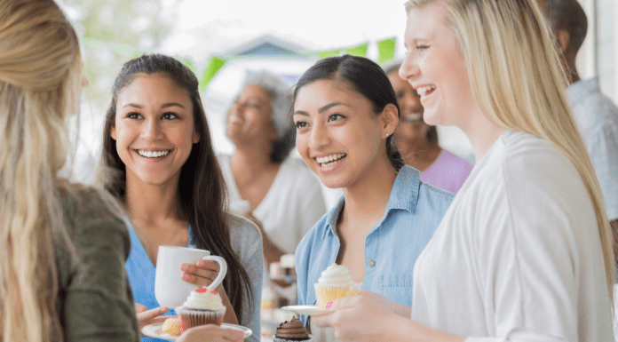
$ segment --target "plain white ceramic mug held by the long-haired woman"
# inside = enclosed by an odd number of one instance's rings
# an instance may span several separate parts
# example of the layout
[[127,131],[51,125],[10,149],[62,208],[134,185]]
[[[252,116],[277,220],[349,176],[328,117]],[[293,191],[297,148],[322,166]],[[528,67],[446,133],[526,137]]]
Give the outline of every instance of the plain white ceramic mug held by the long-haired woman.
[[198,288],[182,280],[182,264],[195,264],[199,260],[213,260],[219,264],[219,273],[214,282],[208,287],[215,290],[223,282],[227,273],[227,263],[224,258],[210,255],[210,251],[195,248],[159,246],[156,256],[155,298],[160,306],[181,306],[191,293]]

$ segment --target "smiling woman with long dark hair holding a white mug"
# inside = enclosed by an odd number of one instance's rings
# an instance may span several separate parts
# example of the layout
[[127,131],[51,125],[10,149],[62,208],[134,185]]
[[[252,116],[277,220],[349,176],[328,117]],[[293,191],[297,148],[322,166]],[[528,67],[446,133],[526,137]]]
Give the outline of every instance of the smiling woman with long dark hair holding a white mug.
[[[227,306],[224,322],[248,326],[258,340],[262,241],[252,222],[226,213],[226,186],[194,73],[158,54],[126,62],[103,139],[100,177],[128,213],[127,273],[138,311],[148,309],[138,314],[140,324],[167,310],[155,298],[159,246],[192,246],[226,259],[217,289]],[[186,282],[208,286],[218,264],[202,260],[182,270]]]

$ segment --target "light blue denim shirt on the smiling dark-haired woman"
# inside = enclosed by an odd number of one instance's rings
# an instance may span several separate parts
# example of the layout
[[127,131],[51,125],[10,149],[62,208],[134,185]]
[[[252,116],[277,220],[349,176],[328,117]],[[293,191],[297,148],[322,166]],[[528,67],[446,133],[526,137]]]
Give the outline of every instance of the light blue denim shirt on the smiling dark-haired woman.
[[[432,238],[455,195],[421,182],[420,172],[404,166],[392,185],[384,217],[365,243],[365,279],[361,289],[412,306],[412,274],[416,258]],[[345,197],[324,215],[298,244],[298,304],[313,305],[320,274],[337,259],[337,220]],[[306,316],[301,316],[306,322]]]

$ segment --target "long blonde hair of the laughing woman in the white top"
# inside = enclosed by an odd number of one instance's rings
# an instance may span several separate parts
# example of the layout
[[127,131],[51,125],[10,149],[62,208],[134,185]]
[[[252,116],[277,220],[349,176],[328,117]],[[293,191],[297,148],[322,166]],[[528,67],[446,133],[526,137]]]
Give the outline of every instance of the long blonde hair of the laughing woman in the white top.
[[613,298],[614,249],[603,197],[566,102],[567,79],[536,0],[409,0],[406,11],[446,1],[480,108],[495,124],[549,141],[574,163],[598,221]]

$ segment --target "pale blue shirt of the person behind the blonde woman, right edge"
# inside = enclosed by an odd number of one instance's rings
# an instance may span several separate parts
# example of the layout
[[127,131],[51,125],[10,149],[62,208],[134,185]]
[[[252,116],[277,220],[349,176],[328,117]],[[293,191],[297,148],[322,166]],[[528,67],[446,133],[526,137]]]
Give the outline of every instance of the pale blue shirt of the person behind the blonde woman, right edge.
[[566,95],[597,173],[607,218],[618,219],[618,107],[601,93],[597,77],[571,84]]

